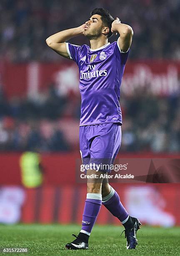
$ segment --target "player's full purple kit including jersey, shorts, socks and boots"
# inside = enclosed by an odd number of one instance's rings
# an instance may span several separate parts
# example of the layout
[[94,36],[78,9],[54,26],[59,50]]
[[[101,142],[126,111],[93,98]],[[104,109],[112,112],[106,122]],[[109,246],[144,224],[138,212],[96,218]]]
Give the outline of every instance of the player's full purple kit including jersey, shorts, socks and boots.
[[[66,43],[66,47],[80,73],[80,153],[83,164],[113,164],[121,144],[120,84],[129,50],[122,53],[117,42],[94,50],[87,45],[76,46],[69,43]],[[110,169],[98,170],[110,172]],[[105,197],[102,197],[102,192],[87,193],[80,233],[78,236],[73,235],[76,239],[67,243],[66,248],[88,248],[88,239],[101,205],[124,225],[127,249],[135,248],[135,235],[141,224],[128,214],[111,186],[109,195]]]

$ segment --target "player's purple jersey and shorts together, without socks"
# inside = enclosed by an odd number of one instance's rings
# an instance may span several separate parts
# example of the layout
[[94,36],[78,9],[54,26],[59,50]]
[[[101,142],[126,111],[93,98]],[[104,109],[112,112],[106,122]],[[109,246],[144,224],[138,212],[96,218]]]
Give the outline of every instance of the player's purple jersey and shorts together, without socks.
[[70,59],[76,62],[80,74],[83,164],[113,164],[120,148],[120,84],[129,50],[122,53],[117,42],[93,50],[87,45],[66,43]]

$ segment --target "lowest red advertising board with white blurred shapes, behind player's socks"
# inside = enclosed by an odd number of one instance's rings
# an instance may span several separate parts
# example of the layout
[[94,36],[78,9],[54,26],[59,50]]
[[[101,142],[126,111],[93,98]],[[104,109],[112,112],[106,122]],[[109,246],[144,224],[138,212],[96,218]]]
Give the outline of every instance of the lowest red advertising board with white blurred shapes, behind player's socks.
[[[131,216],[141,223],[170,227],[180,225],[178,184],[111,184]],[[86,186],[63,185],[25,189],[0,187],[0,223],[78,223],[86,199]],[[78,200],[77,200],[78,198]],[[120,225],[102,205],[98,224]]]

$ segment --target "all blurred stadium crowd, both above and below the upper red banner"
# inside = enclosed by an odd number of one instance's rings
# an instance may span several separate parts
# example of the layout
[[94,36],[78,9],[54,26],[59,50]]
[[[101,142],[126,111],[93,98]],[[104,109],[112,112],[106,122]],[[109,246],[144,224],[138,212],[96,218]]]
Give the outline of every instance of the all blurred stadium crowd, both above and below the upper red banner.
[[[90,11],[99,7],[133,27],[130,59],[180,60],[180,0],[1,0],[0,59],[15,63],[65,61],[49,49],[45,39],[80,26],[89,19]],[[110,38],[115,40],[115,36]],[[88,44],[83,36],[70,42]],[[137,91],[133,97],[122,94],[120,105],[120,151],[180,152],[179,95],[160,98]],[[78,150],[75,127],[79,118],[80,98],[60,96],[53,84],[36,98],[7,99],[0,90],[0,151]],[[64,120],[68,133],[63,129]]]

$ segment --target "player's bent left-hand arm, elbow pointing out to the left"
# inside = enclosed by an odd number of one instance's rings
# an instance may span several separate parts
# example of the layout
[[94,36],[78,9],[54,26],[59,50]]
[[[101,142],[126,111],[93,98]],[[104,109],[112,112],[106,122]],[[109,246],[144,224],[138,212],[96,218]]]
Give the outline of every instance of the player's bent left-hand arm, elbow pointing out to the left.
[[85,24],[77,27],[77,28],[70,28],[64,31],[60,31],[46,39],[47,45],[60,54],[61,56],[70,59],[69,54],[67,53],[66,43],[65,41],[73,38],[75,36],[83,35],[84,33],[84,26]]

